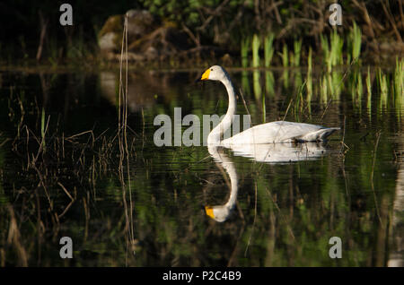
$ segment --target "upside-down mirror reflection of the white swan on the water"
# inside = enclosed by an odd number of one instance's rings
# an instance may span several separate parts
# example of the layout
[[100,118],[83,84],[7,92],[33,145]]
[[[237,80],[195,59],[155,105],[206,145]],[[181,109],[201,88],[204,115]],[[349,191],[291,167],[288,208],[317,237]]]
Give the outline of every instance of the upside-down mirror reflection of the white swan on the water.
[[[237,171],[231,160],[225,153],[223,147],[208,145],[207,150],[217,163],[219,168],[224,168],[230,178],[230,196],[222,205],[206,206],[206,215],[210,218],[223,222],[227,220],[234,210],[237,201],[238,177]],[[234,155],[243,156],[259,162],[267,163],[288,163],[300,160],[318,160],[327,152],[325,143],[265,143],[265,144],[244,144],[232,148]]]

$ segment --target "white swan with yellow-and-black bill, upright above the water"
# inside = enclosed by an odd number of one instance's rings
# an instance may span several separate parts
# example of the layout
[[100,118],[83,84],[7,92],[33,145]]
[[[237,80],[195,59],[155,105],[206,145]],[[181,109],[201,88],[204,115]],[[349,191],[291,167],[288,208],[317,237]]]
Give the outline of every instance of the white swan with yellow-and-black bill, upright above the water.
[[242,133],[221,140],[224,132],[232,125],[236,111],[236,97],[233,83],[229,74],[220,65],[213,65],[206,69],[197,81],[219,81],[224,84],[229,95],[229,107],[223,120],[207,136],[207,144],[221,145],[232,148],[240,144],[259,144],[276,142],[322,142],[339,130],[339,127],[325,127],[304,123],[277,121],[255,125]]

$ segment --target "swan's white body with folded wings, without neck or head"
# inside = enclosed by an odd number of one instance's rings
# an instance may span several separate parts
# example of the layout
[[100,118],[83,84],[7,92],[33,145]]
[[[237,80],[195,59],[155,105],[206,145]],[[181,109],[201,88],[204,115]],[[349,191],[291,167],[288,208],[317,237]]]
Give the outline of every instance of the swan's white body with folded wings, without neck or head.
[[321,125],[277,121],[256,125],[223,141],[224,146],[242,143],[313,142],[323,141],[338,128]]

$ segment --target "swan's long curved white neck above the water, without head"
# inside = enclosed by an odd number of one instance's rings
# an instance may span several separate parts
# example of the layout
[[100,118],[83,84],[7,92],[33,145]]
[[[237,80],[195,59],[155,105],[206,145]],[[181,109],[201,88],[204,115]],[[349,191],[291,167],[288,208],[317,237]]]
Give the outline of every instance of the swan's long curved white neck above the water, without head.
[[227,129],[229,129],[233,123],[233,115],[235,114],[237,102],[235,98],[235,91],[233,87],[233,83],[230,81],[228,74],[224,76],[224,79],[221,80],[226,88],[227,94],[229,95],[229,108],[227,108],[226,115],[219,125],[216,125],[215,128],[210,132],[207,136],[208,144],[219,144],[222,135]]

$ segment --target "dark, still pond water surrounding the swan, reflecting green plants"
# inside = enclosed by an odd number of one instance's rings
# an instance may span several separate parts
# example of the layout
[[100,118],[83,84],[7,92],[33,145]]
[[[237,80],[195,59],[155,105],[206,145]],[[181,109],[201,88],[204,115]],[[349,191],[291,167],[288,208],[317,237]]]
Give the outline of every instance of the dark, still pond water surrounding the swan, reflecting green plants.
[[[119,72],[1,72],[0,264],[402,266],[399,99],[383,99],[375,81],[369,97],[350,74],[326,94],[319,71],[312,97],[299,97],[305,73],[235,70],[253,125],[285,118],[341,132],[272,149],[299,157],[281,162],[157,147],[157,115],[225,113],[223,86],[195,84],[200,72],[129,73],[123,152]],[[206,215],[214,206],[220,219]],[[71,259],[59,255],[62,237]],[[329,256],[332,237],[341,258]]]

